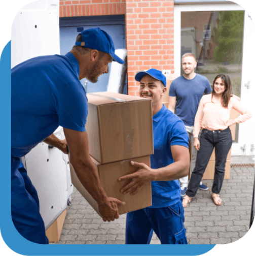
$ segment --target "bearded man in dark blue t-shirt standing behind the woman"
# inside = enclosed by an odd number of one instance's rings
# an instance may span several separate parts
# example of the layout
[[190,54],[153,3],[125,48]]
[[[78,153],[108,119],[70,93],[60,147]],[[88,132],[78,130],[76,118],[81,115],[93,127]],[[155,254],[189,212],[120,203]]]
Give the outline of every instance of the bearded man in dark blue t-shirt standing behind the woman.
[[[196,57],[192,53],[185,53],[181,59],[184,74],[171,83],[168,97],[168,109],[175,113],[181,120],[184,121],[187,133],[190,138],[192,148],[192,159],[190,171],[192,172],[196,165],[197,150],[194,148],[194,120],[197,113],[200,99],[204,94],[211,93],[212,89],[209,80],[195,73],[197,66]],[[179,179],[181,187],[181,196],[186,195],[188,187],[187,175]],[[200,182],[199,188],[207,190],[208,187]]]

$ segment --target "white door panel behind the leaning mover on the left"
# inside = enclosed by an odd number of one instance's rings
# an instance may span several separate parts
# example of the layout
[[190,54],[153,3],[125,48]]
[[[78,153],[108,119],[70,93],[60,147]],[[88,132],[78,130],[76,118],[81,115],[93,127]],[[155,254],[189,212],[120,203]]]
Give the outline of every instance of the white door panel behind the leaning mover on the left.
[[[60,54],[59,0],[30,2],[15,15],[11,26],[11,67],[36,56]],[[54,135],[63,140],[61,126]],[[41,142],[21,158],[38,191],[45,229],[70,204],[71,184],[68,155]]]

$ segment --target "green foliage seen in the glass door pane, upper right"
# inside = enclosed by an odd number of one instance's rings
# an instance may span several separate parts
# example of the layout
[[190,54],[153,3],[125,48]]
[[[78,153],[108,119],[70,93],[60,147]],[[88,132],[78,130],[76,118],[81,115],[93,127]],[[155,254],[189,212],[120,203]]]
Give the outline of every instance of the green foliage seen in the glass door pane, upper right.
[[218,28],[214,29],[215,62],[240,63],[242,61],[244,11],[220,12]]

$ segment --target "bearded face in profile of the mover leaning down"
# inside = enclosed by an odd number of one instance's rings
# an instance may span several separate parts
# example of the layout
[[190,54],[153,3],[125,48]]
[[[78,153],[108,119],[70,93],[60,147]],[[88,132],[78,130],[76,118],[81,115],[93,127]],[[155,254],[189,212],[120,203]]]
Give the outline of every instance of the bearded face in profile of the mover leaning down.
[[98,77],[102,74],[107,74],[109,72],[108,64],[113,61],[113,58],[110,54],[104,54],[101,59],[98,59],[91,68],[87,69],[87,79],[96,83]]

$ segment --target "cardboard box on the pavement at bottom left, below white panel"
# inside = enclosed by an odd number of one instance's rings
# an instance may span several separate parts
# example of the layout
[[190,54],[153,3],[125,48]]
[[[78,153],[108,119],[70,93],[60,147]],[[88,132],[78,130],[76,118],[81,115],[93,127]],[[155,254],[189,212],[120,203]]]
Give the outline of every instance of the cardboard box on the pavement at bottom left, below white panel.
[[63,229],[66,210],[64,210],[52,225],[46,230],[46,236],[49,242],[59,242],[59,238]]

